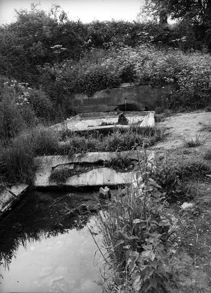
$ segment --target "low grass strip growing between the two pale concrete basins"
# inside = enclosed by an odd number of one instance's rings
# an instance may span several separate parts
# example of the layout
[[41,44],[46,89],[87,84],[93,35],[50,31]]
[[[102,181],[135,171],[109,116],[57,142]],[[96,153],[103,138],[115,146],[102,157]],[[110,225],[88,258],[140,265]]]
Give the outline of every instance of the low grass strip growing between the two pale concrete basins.
[[132,125],[127,129],[115,129],[106,135],[94,132],[81,134],[75,132],[61,133],[62,137],[66,137],[66,144],[61,146],[57,153],[73,155],[74,153],[84,153],[92,151],[126,151],[132,149],[135,145],[152,146],[156,142],[161,141],[166,136],[166,128],[164,126],[146,126],[139,127]]

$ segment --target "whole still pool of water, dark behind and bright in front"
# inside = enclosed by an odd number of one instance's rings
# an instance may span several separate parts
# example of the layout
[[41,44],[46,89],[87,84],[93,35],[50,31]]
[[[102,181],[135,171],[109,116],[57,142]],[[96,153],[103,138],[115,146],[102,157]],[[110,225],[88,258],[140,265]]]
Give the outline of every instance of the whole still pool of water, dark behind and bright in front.
[[97,247],[87,228],[94,230],[100,244],[95,215],[61,215],[58,210],[71,203],[68,198],[49,208],[58,196],[64,194],[29,196],[21,208],[0,222],[0,293],[102,292],[94,282],[100,280],[100,253],[95,255]]

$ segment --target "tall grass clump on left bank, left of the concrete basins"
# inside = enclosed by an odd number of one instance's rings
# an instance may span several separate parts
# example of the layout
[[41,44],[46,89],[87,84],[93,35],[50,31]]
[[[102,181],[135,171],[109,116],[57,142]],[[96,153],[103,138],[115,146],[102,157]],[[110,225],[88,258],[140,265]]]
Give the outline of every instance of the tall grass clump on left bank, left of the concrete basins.
[[57,134],[43,126],[27,129],[16,138],[0,144],[0,185],[33,184],[37,154],[50,154],[58,148]]

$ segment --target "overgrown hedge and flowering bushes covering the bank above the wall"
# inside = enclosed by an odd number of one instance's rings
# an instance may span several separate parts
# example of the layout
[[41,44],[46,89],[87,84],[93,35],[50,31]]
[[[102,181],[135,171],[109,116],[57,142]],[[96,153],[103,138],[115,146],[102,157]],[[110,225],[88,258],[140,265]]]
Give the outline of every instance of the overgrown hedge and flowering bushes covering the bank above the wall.
[[164,87],[158,101],[162,109],[210,104],[211,56],[205,48],[210,41],[199,38],[195,23],[84,24],[68,20],[55,5],[49,13],[32,5],[29,11],[16,11],[16,17],[14,23],[0,27],[1,79],[33,87],[28,100],[37,117],[68,117],[72,94],[91,96],[124,82]]

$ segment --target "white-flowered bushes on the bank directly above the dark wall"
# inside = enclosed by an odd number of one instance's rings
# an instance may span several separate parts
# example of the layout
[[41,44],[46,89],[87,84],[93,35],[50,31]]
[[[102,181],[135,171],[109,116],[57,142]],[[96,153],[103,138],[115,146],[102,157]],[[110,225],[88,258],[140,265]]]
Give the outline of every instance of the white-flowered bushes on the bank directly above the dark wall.
[[162,108],[196,109],[210,103],[211,55],[205,52],[185,53],[145,43],[135,48],[99,50],[98,55],[93,50],[80,63],[46,64],[39,70],[40,82],[57,101],[71,93],[91,96],[96,90],[135,82],[163,87],[164,95],[159,101]]

